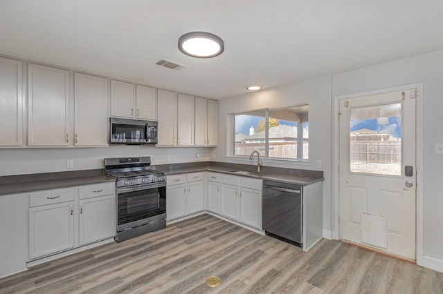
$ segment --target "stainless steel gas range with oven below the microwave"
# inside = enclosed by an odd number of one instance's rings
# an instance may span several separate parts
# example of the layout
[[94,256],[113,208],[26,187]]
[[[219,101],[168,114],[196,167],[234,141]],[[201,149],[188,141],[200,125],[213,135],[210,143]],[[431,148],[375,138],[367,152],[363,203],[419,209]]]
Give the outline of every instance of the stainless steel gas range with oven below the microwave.
[[105,175],[116,181],[116,241],[166,226],[166,176],[150,157],[105,158]]

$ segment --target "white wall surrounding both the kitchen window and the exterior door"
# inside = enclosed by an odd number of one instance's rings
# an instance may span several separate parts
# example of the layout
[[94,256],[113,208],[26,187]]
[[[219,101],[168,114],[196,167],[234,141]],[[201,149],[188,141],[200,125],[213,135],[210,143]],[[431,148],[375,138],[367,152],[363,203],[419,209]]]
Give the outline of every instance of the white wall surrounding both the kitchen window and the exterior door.
[[[334,228],[332,221],[334,197],[332,195],[332,124],[336,114],[332,113],[336,96],[349,95],[371,90],[395,88],[411,84],[423,84],[423,123],[417,130],[423,134],[422,173],[424,208],[424,236],[422,240],[424,266],[443,272],[443,155],[435,155],[435,144],[443,143],[443,51],[419,55],[399,61],[334,73],[304,81],[295,81],[278,88],[248,93],[219,100],[220,141],[215,149],[217,161],[253,164],[248,159],[226,157],[224,141],[232,146],[230,138],[233,130],[227,124],[228,114],[260,108],[291,106],[309,103],[309,161],[307,165],[296,163],[276,163],[264,161],[264,166],[284,166],[316,170],[315,162],[323,161],[325,173],[323,192],[324,232]],[[225,128],[226,126],[226,128]],[[420,242],[420,241],[418,241]],[[419,258],[419,257],[417,257]]]

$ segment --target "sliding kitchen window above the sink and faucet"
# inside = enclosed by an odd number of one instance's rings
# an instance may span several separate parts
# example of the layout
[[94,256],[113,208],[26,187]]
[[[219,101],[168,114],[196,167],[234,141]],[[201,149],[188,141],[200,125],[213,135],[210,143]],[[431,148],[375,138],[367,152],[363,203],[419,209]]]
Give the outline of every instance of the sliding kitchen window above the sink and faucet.
[[233,114],[234,155],[309,159],[308,105]]

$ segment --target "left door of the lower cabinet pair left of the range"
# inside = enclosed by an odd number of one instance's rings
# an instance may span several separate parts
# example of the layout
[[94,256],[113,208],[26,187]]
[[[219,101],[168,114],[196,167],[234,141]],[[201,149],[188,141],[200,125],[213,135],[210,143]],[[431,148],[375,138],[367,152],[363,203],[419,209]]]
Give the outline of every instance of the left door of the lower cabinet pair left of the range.
[[29,208],[29,259],[74,247],[74,202]]

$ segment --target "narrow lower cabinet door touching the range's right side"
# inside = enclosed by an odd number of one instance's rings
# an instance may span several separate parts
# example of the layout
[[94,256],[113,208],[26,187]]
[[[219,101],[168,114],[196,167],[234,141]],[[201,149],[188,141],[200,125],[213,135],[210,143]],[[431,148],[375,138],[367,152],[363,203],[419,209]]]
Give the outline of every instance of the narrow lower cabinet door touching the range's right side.
[[177,219],[186,215],[186,184],[166,187],[166,219]]

